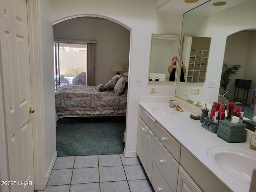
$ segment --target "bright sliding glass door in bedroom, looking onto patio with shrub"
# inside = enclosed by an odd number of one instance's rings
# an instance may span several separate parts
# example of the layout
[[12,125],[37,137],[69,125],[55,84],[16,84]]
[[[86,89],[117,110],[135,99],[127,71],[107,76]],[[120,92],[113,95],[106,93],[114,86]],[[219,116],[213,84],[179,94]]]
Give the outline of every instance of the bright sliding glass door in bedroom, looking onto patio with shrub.
[[[82,79],[86,85],[87,43],[54,41],[55,87],[72,84],[72,80]],[[80,77],[80,76],[81,77]]]

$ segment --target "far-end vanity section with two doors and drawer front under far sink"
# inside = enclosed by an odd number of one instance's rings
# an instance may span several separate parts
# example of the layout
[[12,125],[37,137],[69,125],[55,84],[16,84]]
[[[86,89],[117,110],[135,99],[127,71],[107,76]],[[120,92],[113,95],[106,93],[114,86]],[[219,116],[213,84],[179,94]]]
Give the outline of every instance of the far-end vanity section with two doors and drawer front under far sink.
[[[149,115],[142,109],[142,116]],[[141,114],[140,113],[140,114]],[[148,116],[150,118],[150,116]],[[154,121],[154,119],[152,118]],[[146,122],[148,122],[146,120]],[[138,137],[137,137],[137,154],[140,158],[140,161],[144,167],[146,174],[148,175],[149,180],[151,181],[152,177],[152,164],[153,164],[153,151],[154,151],[154,133],[151,130],[151,127],[147,126],[146,122],[139,117],[138,122]],[[148,123],[150,125],[151,121]],[[155,122],[153,123],[155,124]],[[154,127],[152,128],[154,130]]]

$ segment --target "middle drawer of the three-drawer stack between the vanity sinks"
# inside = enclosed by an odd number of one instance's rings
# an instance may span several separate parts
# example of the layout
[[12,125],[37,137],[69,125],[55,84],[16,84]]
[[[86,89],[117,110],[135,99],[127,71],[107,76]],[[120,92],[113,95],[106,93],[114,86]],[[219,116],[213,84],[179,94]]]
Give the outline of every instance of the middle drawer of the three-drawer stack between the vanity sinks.
[[156,137],[153,160],[172,191],[176,191],[179,164]]

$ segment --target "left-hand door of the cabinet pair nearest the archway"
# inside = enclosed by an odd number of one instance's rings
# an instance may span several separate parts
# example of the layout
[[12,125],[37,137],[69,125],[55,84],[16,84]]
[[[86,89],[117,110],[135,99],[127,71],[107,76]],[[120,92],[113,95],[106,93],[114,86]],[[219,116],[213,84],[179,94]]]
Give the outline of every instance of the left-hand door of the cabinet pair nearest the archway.
[[140,158],[141,163],[143,162],[143,156],[144,156],[144,140],[145,140],[145,123],[142,121],[142,119],[139,117],[138,122],[138,137],[137,137],[137,154]]

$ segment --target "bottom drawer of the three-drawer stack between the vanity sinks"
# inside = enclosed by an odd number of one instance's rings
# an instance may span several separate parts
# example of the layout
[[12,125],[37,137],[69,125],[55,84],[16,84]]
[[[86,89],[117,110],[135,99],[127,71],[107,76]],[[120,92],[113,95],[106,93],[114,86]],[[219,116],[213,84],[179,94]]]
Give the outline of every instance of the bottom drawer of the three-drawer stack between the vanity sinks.
[[158,170],[156,164],[153,161],[153,170],[152,170],[152,182],[154,190],[160,192],[172,192],[161,172]]

